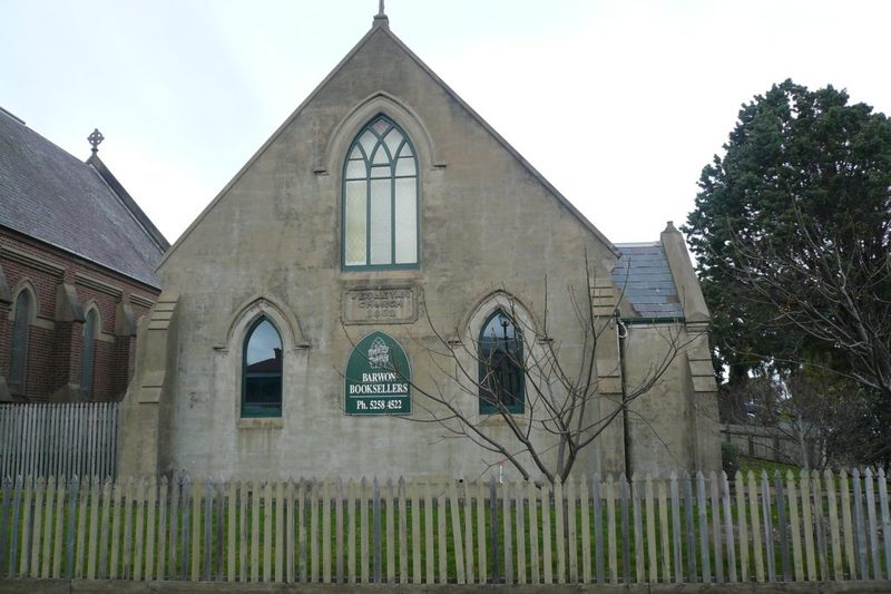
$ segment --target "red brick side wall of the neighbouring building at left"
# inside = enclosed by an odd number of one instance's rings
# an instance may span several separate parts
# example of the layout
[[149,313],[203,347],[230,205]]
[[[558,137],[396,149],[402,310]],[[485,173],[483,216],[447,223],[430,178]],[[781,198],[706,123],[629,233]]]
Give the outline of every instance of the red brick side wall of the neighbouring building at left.
[[[84,352],[84,317],[95,304],[101,323],[94,350],[89,399],[119,400],[133,377],[135,337],[118,335],[118,311],[128,304],[134,321],[148,313],[159,291],[30,237],[0,228],[0,266],[11,302],[0,302],[0,376],[9,377],[14,300],[27,285],[36,293],[23,393],[16,400],[47,401],[78,397]],[[79,311],[59,306],[60,286],[74,288]],[[63,301],[63,300],[62,300]],[[68,313],[68,314],[66,314]],[[127,324],[124,324],[125,327]]]

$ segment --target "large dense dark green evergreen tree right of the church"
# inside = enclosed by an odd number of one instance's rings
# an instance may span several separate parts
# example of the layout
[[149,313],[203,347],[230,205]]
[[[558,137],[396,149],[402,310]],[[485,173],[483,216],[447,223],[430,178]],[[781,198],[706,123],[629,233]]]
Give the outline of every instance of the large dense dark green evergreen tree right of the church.
[[786,80],[740,111],[683,231],[732,383],[831,369],[891,397],[891,121]]

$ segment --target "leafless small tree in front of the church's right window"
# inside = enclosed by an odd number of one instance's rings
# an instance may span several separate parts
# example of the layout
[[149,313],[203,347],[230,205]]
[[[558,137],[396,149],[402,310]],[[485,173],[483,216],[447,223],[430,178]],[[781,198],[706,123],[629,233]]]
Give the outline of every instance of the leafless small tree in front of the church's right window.
[[[478,340],[460,329],[447,334],[435,328],[428,314],[435,345],[425,350],[439,377],[432,379],[432,386],[411,381],[428,417],[410,420],[437,423],[446,438],[469,439],[498,454],[525,479],[536,470],[548,480],[556,477],[565,480],[579,454],[611,423],[634,413],[631,405],[653,390],[672,362],[697,340],[681,323],[665,324],[659,334],[664,341],[662,353],[649,363],[644,376],[633,386],[623,379],[620,397],[604,391],[604,376],[625,373],[619,369],[620,361],[616,369],[598,370],[598,343],[604,340],[621,343],[627,328],[618,310],[613,317],[596,315],[587,256],[585,265],[584,293],[571,286],[567,289],[577,322],[577,337],[569,341],[568,337],[558,338],[549,332],[547,280],[538,325],[522,315],[511,298],[505,313],[512,328],[505,325],[500,335],[493,329],[491,339]],[[620,344],[618,350],[621,353]],[[519,398],[525,400],[521,413],[516,408]],[[486,420],[492,416],[500,419],[508,437],[505,431],[493,430],[491,422],[480,421],[480,407],[487,409]]]

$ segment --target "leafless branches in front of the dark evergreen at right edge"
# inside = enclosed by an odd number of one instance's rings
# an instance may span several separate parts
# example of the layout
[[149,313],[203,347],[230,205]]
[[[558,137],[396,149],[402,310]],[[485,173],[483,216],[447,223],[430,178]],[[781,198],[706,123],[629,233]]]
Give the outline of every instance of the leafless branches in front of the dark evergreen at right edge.
[[812,363],[810,341],[839,354],[836,373],[891,398],[891,253],[865,240],[842,241],[795,214],[799,240],[791,245],[734,242],[747,299],[766,312],[764,331],[800,337],[774,358]]

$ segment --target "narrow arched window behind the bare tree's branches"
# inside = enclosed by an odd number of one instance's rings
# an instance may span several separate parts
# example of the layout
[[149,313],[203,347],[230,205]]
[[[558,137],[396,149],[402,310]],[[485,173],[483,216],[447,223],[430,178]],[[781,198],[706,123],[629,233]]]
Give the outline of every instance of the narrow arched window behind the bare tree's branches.
[[482,325],[479,338],[480,412],[506,409],[522,412],[526,373],[522,332],[505,312],[495,312]]

